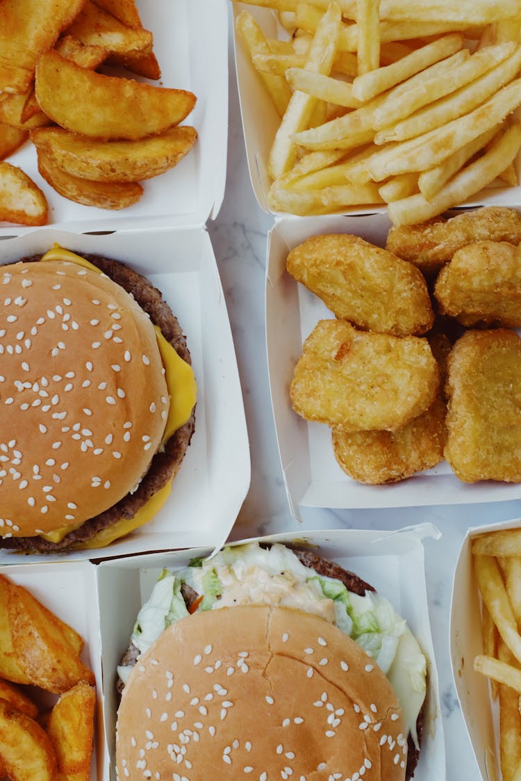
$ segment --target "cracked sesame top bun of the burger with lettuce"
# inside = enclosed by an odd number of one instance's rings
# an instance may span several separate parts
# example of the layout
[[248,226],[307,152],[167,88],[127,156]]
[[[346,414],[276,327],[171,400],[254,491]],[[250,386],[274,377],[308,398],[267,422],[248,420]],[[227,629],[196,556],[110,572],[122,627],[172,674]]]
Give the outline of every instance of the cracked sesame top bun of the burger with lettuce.
[[388,679],[335,626],[247,606],[175,622],[134,667],[116,727],[119,779],[403,781]]

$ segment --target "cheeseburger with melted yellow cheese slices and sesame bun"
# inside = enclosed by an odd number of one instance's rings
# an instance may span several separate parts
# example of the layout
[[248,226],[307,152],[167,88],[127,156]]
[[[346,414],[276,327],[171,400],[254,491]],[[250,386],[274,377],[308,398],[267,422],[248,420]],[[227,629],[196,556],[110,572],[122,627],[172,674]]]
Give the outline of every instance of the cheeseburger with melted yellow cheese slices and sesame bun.
[[185,338],[115,260],[56,246],[0,277],[0,547],[102,547],[158,512],[190,444]]

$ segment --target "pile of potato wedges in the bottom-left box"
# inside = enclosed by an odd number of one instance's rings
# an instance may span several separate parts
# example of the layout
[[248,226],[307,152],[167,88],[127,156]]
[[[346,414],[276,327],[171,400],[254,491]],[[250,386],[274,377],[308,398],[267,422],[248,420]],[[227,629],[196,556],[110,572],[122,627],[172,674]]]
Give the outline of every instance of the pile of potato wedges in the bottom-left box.
[[[83,638],[0,576],[0,777],[88,781],[94,673]],[[58,695],[48,708],[49,694]]]

